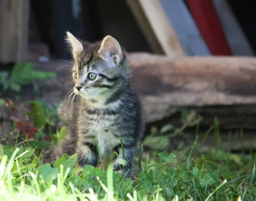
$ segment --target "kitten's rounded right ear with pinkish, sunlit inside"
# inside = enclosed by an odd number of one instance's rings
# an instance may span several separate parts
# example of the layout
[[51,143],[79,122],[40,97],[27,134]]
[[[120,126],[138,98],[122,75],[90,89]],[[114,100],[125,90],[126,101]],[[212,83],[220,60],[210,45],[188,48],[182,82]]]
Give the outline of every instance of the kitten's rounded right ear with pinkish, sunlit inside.
[[111,67],[119,66],[119,63],[123,59],[122,49],[117,40],[112,36],[106,36],[102,40],[98,54],[105,59],[105,61],[109,62]]

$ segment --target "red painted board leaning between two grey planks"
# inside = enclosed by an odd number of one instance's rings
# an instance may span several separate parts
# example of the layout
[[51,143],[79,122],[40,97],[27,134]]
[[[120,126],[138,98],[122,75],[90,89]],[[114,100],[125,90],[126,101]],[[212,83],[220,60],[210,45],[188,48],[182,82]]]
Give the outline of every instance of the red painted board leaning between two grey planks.
[[212,0],[186,0],[212,55],[232,55]]

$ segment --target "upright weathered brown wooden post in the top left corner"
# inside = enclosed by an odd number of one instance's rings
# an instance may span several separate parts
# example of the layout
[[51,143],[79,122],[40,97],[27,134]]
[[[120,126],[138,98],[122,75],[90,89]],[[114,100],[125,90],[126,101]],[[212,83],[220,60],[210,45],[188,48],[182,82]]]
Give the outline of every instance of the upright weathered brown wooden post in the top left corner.
[[29,38],[29,0],[0,1],[0,61],[26,60]]

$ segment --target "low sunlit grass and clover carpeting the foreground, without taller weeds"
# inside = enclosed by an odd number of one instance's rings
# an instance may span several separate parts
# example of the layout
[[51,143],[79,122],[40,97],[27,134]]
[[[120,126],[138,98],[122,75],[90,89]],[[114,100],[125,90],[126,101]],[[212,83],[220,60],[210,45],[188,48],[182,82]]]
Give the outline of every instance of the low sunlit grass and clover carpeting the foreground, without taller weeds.
[[189,149],[180,156],[144,153],[141,172],[133,181],[115,174],[111,166],[103,172],[90,165],[76,167],[76,154],[64,155],[52,168],[41,163],[37,148],[2,146],[0,200],[256,200],[255,159],[214,149],[201,155],[197,148]]

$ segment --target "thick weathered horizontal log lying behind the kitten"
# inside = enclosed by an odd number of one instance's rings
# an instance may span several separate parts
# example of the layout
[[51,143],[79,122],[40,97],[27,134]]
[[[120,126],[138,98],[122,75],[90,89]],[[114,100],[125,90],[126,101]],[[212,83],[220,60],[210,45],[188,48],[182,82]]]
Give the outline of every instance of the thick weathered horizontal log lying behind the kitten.
[[[142,55],[130,54],[130,59],[148,124],[180,125],[180,113],[188,107],[204,117],[201,126],[205,128],[217,116],[221,129],[256,129],[256,58]],[[66,96],[73,88],[68,65],[35,63],[38,70],[58,74],[40,83],[38,98],[60,102]],[[6,94],[10,93],[2,93]],[[32,99],[32,94],[31,87],[20,93],[23,99]]]

